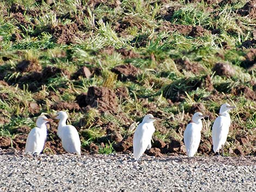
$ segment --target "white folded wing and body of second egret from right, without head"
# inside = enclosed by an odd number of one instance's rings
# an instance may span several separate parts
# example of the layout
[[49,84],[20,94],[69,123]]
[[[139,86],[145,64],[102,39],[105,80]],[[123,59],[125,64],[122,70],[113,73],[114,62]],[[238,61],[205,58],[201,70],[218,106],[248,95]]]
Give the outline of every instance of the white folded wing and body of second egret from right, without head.
[[193,157],[197,152],[201,140],[200,125],[189,123],[184,132],[184,143],[186,146],[187,156]]

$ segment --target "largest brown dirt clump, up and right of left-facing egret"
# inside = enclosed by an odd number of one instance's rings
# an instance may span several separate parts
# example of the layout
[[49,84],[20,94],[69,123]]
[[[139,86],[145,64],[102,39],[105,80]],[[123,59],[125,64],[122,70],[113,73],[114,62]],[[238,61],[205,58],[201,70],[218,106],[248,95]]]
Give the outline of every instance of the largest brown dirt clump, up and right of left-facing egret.
[[102,113],[107,110],[115,113],[118,108],[117,96],[114,91],[105,87],[90,86],[87,94],[78,95],[76,101],[80,107],[95,107]]

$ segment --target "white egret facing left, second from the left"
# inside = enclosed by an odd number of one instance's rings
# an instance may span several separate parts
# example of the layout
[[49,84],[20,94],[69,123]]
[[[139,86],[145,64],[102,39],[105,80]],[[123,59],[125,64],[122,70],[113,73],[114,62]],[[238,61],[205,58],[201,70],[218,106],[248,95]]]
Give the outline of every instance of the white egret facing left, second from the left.
[[59,120],[57,135],[62,140],[62,146],[66,152],[81,154],[81,142],[76,128],[66,125],[68,114],[58,112],[56,119]]

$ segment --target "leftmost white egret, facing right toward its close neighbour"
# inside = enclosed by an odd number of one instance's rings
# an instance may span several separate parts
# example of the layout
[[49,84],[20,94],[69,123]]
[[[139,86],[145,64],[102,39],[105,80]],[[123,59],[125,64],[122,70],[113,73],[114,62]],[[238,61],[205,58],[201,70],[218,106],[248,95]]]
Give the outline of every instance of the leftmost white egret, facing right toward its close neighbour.
[[40,115],[36,120],[36,127],[34,127],[31,132],[29,132],[25,151],[31,153],[41,153],[45,145],[45,140],[47,137],[47,127],[46,123],[52,121],[47,119],[46,116]]

